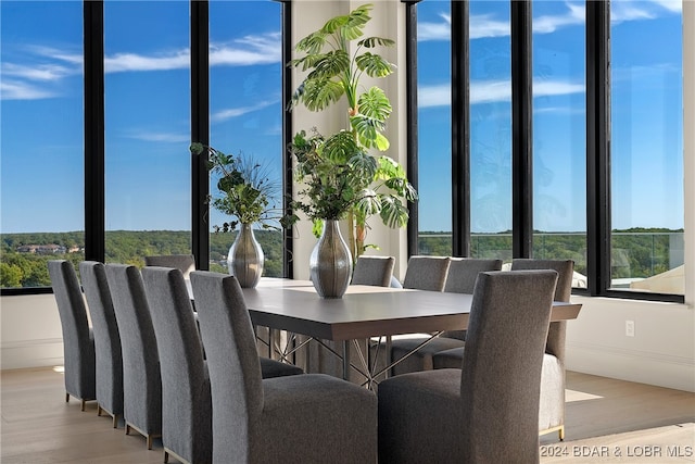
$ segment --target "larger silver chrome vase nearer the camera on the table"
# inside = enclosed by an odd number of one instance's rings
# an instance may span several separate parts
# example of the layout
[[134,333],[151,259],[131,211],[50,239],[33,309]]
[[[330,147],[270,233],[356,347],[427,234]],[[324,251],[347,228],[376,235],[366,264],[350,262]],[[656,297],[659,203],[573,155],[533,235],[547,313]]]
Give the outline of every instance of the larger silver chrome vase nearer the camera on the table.
[[309,275],[321,298],[342,298],[352,277],[352,255],[338,221],[325,221],[324,231],[308,262]]

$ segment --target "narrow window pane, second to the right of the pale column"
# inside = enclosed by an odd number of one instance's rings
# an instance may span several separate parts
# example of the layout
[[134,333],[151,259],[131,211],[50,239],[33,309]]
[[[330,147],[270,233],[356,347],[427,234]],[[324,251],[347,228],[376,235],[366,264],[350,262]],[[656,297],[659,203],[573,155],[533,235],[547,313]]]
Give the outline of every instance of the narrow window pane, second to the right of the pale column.
[[470,254],[511,259],[511,41],[504,1],[470,2]]

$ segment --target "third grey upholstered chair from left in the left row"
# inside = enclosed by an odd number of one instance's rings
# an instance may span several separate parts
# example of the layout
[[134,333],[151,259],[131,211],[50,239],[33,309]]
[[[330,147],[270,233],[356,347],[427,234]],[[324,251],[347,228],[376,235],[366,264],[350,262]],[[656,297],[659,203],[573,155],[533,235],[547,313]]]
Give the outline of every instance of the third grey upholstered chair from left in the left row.
[[137,430],[151,450],[162,436],[162,377],[142,276],[132,265],[110,263],[105,268],[123,350],[126,435]]

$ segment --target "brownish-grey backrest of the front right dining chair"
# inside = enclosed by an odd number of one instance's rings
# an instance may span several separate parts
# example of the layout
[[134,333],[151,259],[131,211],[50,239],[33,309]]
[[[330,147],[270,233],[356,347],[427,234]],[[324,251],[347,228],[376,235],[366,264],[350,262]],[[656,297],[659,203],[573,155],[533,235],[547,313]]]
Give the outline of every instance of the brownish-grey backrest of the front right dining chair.
[[541,367],[556,283],[555,271],[478,277],[460,374],[462,462],[539,462]]

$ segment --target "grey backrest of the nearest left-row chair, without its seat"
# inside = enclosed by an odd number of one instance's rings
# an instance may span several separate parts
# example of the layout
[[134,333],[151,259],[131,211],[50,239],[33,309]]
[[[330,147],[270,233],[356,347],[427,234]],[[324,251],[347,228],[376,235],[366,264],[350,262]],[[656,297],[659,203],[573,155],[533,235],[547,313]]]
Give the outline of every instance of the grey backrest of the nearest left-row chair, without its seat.
[[264,398],[255,335],[243,293],[237,278],[225,274],[193,272],[191,286],[210,365],[214,462],[225,462],[229,456],[248,462],[253,455],[250,436],[260,421]]

